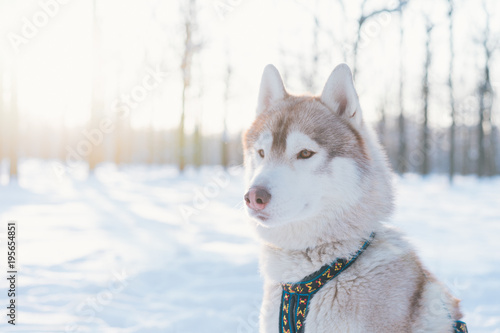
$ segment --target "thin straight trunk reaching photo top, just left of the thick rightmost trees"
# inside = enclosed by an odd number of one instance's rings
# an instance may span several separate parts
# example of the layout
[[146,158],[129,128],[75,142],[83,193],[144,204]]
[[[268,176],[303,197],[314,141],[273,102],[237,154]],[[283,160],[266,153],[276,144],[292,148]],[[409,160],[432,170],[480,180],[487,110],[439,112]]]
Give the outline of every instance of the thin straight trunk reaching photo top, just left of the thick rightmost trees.
[[450,155],[449,155],[449,179],[450,183],[453,182],[453,175],[455,174],[455,132],[456,132],[456,120],[455,120],[455,95],[453,91],[453,61],[455,60],[455,49],[453,44],[453,0],[448,0],[448,30],[450,35],[450,67],[448,70],[448,88],[450,92]]

